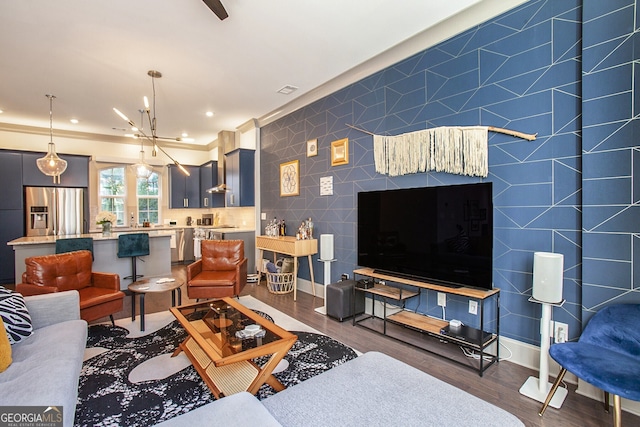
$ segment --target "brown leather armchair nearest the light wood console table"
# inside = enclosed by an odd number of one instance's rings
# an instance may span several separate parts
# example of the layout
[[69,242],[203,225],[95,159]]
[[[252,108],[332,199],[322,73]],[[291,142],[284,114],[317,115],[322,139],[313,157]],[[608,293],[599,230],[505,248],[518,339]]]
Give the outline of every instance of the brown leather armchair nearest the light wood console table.
[[243,240],[202,240],[202,258],[187,266],[191,299],[233,297],[247,284]]

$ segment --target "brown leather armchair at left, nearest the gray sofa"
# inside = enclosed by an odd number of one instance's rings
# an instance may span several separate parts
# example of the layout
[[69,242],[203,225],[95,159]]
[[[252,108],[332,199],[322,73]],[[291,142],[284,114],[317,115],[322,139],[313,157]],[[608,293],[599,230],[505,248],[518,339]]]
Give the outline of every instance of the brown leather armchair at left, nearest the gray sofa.
[[77,290],[80,294],[80,317],[87,322],[122,310],[124,293],[116,273],[91,271],[90,251],[74,251],[25,259],[26,271],[16,291],[22,295]]

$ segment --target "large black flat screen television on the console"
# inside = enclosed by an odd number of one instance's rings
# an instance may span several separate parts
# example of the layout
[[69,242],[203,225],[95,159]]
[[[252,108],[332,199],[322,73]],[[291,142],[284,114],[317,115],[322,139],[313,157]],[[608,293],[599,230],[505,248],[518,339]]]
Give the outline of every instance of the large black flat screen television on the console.
[[379,273],[492,289],[492,183],[360,192],[357,250]]

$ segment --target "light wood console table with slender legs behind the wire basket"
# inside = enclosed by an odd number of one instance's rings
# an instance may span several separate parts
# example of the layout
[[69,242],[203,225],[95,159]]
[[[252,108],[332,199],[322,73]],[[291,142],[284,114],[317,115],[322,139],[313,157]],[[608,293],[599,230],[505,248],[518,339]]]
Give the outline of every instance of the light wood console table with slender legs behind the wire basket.
[[318,253],[318,241],[316,239],[297,240],[293,236],[257,236],[256,248],[260,249],[260,262],[258,272],[262,273],[262,258],[264,251],[272,251],[293,257],[293,300],[297,298],[298,290],[298,257],[306,256],[309,259],[309,273],[311,274],[311,291],[316,296],[315,278],[313,276],[313,262],[311,256]]

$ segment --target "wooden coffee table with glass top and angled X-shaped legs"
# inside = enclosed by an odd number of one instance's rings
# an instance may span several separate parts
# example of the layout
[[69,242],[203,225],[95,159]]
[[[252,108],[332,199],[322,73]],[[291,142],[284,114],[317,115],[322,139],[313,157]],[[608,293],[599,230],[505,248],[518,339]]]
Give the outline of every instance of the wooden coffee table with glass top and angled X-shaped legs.
[[[233,298],[171,308],[188,337],[173,353],[184,351],[216,398],[241,391],[256,394],[262,384],[285,386],[273,370],[298,337]],[[252,359],[270,356],[263,366]]]

